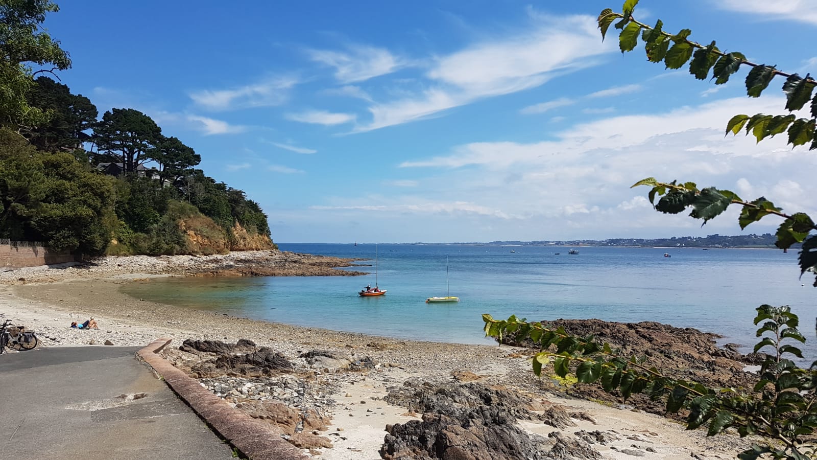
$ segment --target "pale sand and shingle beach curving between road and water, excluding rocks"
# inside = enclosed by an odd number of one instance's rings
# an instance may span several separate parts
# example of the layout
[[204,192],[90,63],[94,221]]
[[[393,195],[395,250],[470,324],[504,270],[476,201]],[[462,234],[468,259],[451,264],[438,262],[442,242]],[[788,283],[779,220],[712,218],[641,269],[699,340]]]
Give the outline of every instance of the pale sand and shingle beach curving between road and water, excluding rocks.
[[[123,263],[127,265],[130,261],[108,258],[105,262],[111,267],[119,264],[119,268]],[[172,264],[172,261],[163,260],[162,264]],[[600,454],[599,458],[734,458],[747,445],[734,435],[707,438],[702,431],[685,431],[678,422],[626,404],[598,404],[560,394],[558,385],[549,378],[534,377],[526,358],[529,350],[507,345],[395,340],[157,304],[134,299],[119,288],[133,280],[145,282],[167,273],[157,273],[152,268],[142,270],[144,273],[137,273],[133,268],[128,270],[128,273],[125,269],[92,273],[86,269],[81,272],[84,276],[75,276],[76,273],[65,268],[0,273],[0,320],[9,318],[16,324],[25,324],[38,333],[45,347],[102,345],[106,340],[113,345],[147,345],[159,336],[172,336],[174,342],[167,358],[176,363],[190,361],[190,356],[194,356],[177,350],[186,339],[225,343],[248,339],[259,346],[270,347],[293,363],[296,372],[288,378],[303,378],[305,383],[301,386],[310,389],[309,398],[293,391],[289,407],[307,404],[328,421],[324,430],[312,433],[315,439],[331,440],[332,448],[304,447],[305,452],[316,458],[381,458],[379,451],[386,436],[386,425],[420,420],[422,416],[400,404],[386,402],[390,391],[410,385],[452,385],[466,381],[511,390],[543,406],[564,408],[568,414],[585,414],[586,417],[571,416],[570,422],[562,427],[538,420],[522,420],[518,426],[525,432],[552,439],[557,437],[552,434],[554,431],[571,440],[582,436],[587,440],[587,433],[598,432],[600,435],[594,436],[604,441],[592,444],[592,449]],[[25,284],[20,278],[25,278]],[[72,321],[90,317],[96,318],[100,325],[98,330],[69,327]],[[350,357],[351,361],[368,359],[373,365],[356,371],[316,367],[309,358],[304,358],[310,350],[325,350]],[[249,387],[248,382],[255,382],[253,388],[261,386],[258,381],[248,379],[243,385]],[[270,379],[266,382],[264,385],[269,388]],[[249,396],[252,393],[257,392],[242,394],[221,390],[222,397],[239,407],[235,410],[253,408],[272,398],[265,396],[266,393]],[[579,431],[582,433],[577,435]]]

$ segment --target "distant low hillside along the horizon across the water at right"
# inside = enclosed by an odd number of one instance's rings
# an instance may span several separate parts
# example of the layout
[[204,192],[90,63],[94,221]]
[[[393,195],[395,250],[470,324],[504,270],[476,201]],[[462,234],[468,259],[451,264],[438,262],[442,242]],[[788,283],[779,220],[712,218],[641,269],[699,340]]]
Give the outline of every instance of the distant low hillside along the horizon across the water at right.
[[621,247],[732,247],[732,248],[774,248],[777,238],[771,233],[762,235],[708,235],[707,237],[672,238],[610,238],[608,240],[570,241],[491,241],[489,245],[519,246],[621,246]]

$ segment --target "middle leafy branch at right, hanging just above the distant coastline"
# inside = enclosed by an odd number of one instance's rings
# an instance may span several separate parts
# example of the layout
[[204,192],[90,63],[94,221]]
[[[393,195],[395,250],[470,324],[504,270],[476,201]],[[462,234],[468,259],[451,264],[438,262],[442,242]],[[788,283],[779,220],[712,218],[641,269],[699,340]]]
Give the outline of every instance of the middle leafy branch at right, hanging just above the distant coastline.
[[[730,205],[743,207],[738,217],[741,229],[769,214],[779,216],[784,221],[775,233],[777,237],[775,246],[788,250],[792,245],[802,243],[798,258],[801,276],[806,271],[817,271],[817,235],[810,236],[810,232],[817,230],[817,225],[806,213],[784,214],[781,208],[763,196],[754,201],[743,201],[737,194],[729,190],[718,190],[715,187],[699,190],[695,183],[691,182],[661,183],[655,178],[645,178],[633,184],[632,187],[640,185],[652,187],[648,196],[655,210],[665,214],[679,214],[688,207],[692,207],[690,216],[694,219],[703,219],[703,223],[723,213]],[[661,197],[657,203],[655,202],[656,196]],[[815,277],[814,286],[817,287],[817,277]]]

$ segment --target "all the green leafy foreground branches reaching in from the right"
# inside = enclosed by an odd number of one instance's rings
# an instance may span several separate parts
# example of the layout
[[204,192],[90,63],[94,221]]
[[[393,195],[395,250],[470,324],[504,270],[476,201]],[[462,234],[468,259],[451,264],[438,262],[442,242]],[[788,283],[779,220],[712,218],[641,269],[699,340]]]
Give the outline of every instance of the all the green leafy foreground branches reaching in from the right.
[[[788,133],[788,143],[797,147],[810,143],[810,150],[817,148],[815,123],[817,123],[817,97],[812,92],[817,82],[809,75],[787,74],[775,65],[755,64],[747,61],[743,53],[721,52],[714,41],[707,46],[689,39],[690,29],[677,34],[663,31],[663,22],[654,27],[639,22],[633,16],[638,0],[626,0],[621,13],[611,9],[601,11],[598,25],[602,39],[609,26],[615,22],[620,29],[619,48],[630,52],[637,46],[639,37],[645,43],[647,59],[664,62],[667,69],[680,69],[690,61],[690,74],[697,79],[707,79],[712,72],[716,84],[726,83],[741,66],[751,67],[745,83],[749,97],[759,97],[776,76],[786,79],[783,91],[786,95],[785,110],[801,110],[810,101],[810,118],[797,119],[791,113],[784,115],[757,114],[735,115],[726,124],[726,134],[737,134],[745,128],[757,142],[777,134]],[[659,182],[645,178],[633,187],[652,187],[650,202],[655,209],[667,214],[678,214],[691,208],[690,216],[703,219],[703,223],[723,213],[730,205],[739,205],[741,228],[757,222],[766,215],[774,214],[784,222],[776,232],[775,243],[788,250],[802,243],[799,264],[801,275],[817,268],[817,230],[815,222],[805,213],[784,214],[765,197],[744,201],[734,192],[716,187],[699,188],[695,183]],[[656,203],[655,198],[660,196]],[[817,281],[815,281],[817,286]],[[617,350],[600,343],[594,336],[578,337],[563,328],[551,329],[542,322],[527,322],[511,316],[507,320],[494,320],[483,315],[486,336],[513,335],[516,340],[529,338],[542,350],[533,359],[534,372],[542,372],[542,366],[553,360],[554,371],[565,377],[571,370],[579,382],[599,381],[607,391],[618,391],[627,399],[634,393],[645,392],[654,398],[667,399],[667,413],[677,413],[681,408],[689,411],[689,429],[708,425],[708,435],[717,435],[726,428],[734,427],[739,435],[761,435],[769,440],[766,445],[753,445],[739,455],[743,460],[761,457],[805,460],[817,456],[817,361],[809,369],[800,368],[786,354],[803,359],[801,350],[785,344],[784,340],[805,342],[797,330],[799,318],[784,307],[763,304],[757,308],[755,324],[762,322],[757,336],[764,336],[755,351],[770,347],[770,354],[761,366],[757,385],[752,390],[734,388],[707,388],[692,381],[681,381],[664,375],[659,369],[649,367],[645,357],[624,357]],[[770,336],[765,336],[770,334]]]

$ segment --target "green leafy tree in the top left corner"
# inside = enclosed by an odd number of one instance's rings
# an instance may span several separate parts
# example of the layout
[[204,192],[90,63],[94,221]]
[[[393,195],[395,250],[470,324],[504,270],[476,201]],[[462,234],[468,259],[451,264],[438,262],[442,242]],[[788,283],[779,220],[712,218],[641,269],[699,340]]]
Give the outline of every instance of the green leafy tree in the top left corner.
[[49,0],[0,0],[0,123],[26,131],[48,119],[47,111],[29,105],[31,65],[71,66],[60,42],[41,30],[49,12],[60,11]]

